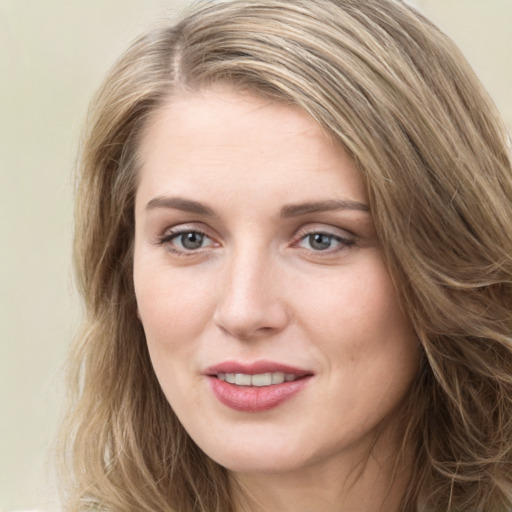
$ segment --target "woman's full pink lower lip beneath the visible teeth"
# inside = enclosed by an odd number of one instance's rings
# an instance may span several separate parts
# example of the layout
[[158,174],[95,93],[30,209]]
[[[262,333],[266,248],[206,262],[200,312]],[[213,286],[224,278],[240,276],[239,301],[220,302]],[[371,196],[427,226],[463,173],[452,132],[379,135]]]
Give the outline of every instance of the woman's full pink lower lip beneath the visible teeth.
[[208,377],[219,402],[235,411],[261,412],[273,409],[304,389],[311,375],[271,386],[237,386],[217,377]]

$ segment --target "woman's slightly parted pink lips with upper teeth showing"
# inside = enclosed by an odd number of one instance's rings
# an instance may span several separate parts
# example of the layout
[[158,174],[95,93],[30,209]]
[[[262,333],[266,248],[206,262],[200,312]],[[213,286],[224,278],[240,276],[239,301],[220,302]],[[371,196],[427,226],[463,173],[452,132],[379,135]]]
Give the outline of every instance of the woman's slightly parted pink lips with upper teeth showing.
[[304,389],[312,372],[280,363],[227,361],[207,368],[214,396],[236,411],[260,412],[281,405]]

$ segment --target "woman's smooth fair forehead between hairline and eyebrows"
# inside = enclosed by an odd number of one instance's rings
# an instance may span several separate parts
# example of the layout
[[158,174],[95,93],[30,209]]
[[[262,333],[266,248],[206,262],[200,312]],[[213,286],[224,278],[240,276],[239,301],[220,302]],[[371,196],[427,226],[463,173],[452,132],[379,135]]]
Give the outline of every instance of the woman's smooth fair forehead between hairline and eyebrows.
[[352,159],[305,111],[228,87],[170,98],[148,123],[139,150],[138,193],[179,186],[206,194],[244,184],[247,194],[302,187],[302,195],[314,195],[343,183],[349,199],[365,197]]

